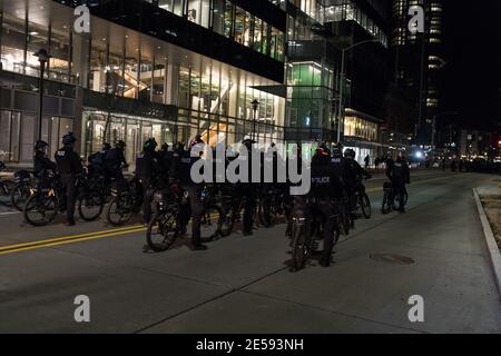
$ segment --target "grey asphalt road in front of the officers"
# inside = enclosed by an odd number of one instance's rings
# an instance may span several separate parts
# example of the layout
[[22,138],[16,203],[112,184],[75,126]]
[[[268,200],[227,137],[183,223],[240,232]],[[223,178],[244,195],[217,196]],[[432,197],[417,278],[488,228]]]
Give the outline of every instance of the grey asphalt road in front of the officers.
[[[299,273],[288,271],[284,226],[207,251],[147,254],[141,227],[32,228],[0,209],[0,333],[500,333],[471,192],[494,179],[415,172],[407,212],[383,216],[376,178],[373,218],[356,222],[330,268]],[[90,323],[75,322],[78,295],[90,298]],[[409,320],[413,295],[423,323]]]

